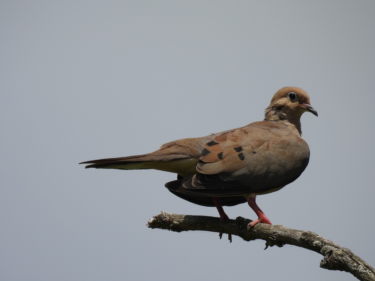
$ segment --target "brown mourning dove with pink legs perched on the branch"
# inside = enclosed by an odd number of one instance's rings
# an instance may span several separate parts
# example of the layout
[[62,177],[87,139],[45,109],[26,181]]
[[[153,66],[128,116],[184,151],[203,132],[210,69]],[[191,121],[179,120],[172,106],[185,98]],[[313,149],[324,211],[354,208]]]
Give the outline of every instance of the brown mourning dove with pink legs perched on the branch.
[[304,90],[285,87],[273,96],[263,121],[168,142],[148,154],[80,164],[90,164],[86,168],[177,173],[177,180],[165,184],[173,194],[198,205],[216,206],[221,220],[228,219],[222,206],[248,202],[258,216],[248,227],[271,224],[255,197],[280,190],[305,170],[310,151],[301,138],[303,112],[318,116]]

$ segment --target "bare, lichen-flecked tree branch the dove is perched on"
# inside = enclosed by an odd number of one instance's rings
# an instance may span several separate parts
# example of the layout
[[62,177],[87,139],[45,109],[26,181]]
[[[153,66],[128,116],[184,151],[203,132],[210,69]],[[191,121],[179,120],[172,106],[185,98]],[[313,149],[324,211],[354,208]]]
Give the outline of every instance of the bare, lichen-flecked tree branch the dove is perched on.
[[216,217],[176,215],[161,212],[151,219],[147,226],[175,232],[199,230],[228,233],[229,235],[237,235],[245,241],[262,239],[266,241],[265,249],[275,245],[278,247],[282,247],[285,244],[295,245],[323,255],[324,258],[320,262],[321,268],[346,271],[359,280],[375,281],[375,270],[368,263],[354,255],[349,249],[343,248],[314,232],[263,223],[259,223],[248,230],[249,222],[251,220],[242,217],[237,217],[236,220],[220,222]]

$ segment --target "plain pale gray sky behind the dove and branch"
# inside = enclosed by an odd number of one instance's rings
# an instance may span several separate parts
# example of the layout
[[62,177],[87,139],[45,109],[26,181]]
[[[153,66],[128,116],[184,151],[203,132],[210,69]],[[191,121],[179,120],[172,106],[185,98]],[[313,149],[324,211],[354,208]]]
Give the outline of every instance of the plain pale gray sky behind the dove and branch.
[[[160,211],[213,215],[175,175],[84,169],[263,120],[305,89],[305,172],[257,197],[375,265],[374,1],[2,1],[1,280],[355,280],[323,256],[216,233],[148,229]],[[247,204],[230,218],[255,219]]]

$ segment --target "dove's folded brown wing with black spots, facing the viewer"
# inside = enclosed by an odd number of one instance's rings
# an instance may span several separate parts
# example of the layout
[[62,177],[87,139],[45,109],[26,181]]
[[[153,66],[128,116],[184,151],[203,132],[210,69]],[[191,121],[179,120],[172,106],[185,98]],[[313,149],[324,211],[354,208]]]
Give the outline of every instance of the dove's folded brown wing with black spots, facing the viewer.
[[288,125],[255,122],[206,142],[198,174],[181,181],[175,191],[201,196],[272,192],[297,179],[309,155],[307,143]]

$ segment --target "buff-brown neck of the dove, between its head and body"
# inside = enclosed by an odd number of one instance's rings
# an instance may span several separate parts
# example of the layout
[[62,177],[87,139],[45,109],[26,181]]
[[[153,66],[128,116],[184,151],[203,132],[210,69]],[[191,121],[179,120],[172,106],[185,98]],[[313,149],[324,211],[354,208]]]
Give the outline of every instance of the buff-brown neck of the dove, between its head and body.
[[289,129],[297,130],[299,135],[302,135],[301,130],[301,115],[296,112],[288,112],[285,108],[269,107],[264,114],[265,121],[275,121],[284,123]]

